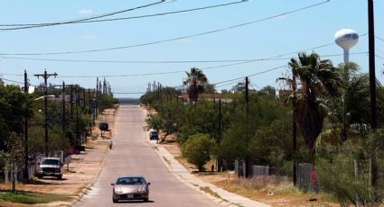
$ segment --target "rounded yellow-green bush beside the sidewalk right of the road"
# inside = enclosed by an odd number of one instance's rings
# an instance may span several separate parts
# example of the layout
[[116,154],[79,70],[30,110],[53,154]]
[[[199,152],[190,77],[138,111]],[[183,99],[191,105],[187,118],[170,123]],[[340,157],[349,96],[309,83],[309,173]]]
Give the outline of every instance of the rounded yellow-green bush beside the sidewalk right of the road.
[[214,147],[214,140],[207,134],[192,135],[183,144],[183,156],[187,157],[188,162],[203,171],[203,166],[211,159],[211,150]]

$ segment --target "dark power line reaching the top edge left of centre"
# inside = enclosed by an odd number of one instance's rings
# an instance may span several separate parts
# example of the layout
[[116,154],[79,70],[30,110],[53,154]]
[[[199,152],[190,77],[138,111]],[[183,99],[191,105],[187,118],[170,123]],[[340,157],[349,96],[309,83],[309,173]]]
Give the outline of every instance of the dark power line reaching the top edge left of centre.
[[136,6],[134,8],[125,9],[125,10],[121,10],[121,11],[117,11],[117,12],[112,12],[112,13],[108,13],[108,14],[100,14],[100,15],[97,15],[97,16],[82,18],[80,20],[78,19],[78,20],[70,20],[70,21],[61,21],[61,22],[56,22],[56,23],[1,24],[0,26],[15,26],[15,25],[18,25],[18,26],[21,26],[21,27],[0,28],[0,31],[14,31],[14,30],[32,29],[32,28],[37,28],[37,27],[47,27],[47,26],[55,26],[55,25],[61,25],[61,24],[69,24],[69,23],[81,23],[83,21],[91,21],[91,20],[94,20],[94,19],[99,19],[99,18],[111,16],[111,15],[123,14],[123,13],[126,13],[126,12],[131,12],[131,11],[134,11],[134,10],[137,10],[137,9],[142,9],[142,8],[145,8],[145,7],[153,6],[155,4],[162,4],[162,3],[164,3],[164,1],[165,0],[161,0],[161,1],[158,1],[158,2],[155,2],[155,3],[151,3],[151,4],[140,5],[140,6]]

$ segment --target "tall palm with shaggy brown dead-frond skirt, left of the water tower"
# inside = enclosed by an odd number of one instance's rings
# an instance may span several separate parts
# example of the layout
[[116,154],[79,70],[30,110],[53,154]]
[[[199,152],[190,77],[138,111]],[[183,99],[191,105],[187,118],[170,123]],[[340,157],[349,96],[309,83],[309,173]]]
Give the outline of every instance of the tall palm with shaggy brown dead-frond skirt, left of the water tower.
[[310,55],[299,53],[298,58],[299,61],[292,58],[288,63],[300,84],[296,93],[295,122],[307,148],[314,150],[326,115],[318,98],[340,94],[341,78],[330,60],[320,60],[314,52]]

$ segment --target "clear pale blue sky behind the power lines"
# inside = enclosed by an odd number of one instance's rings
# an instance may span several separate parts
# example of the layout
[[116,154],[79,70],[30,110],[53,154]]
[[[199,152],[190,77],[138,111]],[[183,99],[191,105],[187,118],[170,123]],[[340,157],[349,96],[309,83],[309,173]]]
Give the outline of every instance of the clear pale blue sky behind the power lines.
[[[361,35],[350,51],[350,60],[361,72],[368,72],[367,0],[167,0],[155,4],[158,2],[0,0],[0,77],[6,84],[17,84],[23,82],[26,70],[30,84],[39,85],[42,78],[33,75],[46,69],[58,74],[48,79],[51,84],[65,81],[86,88],[96,87],[96,76],[105,77],[116,97],[139,97],[154,81],[183,85],[185,71],[198,67],[211,84],[217,84],[219,92],[245,76],[256,90],[267,85],[279,89],[284,85],[276,78],[288,74],[289,59],[300,51],[314,51],[322,59],[331,59],[334,66],[342,63],[342,49],[334,43],[334,34],[345,28]],[[147,4],[152,5],[144,6]],[[164,14],[218,4],[227,5]],[[384,84],[382,11],[384,1],[374,1],[376,77]],[[81,20],[115,12],[121,13],[93,20],[136,18],[20,30],[15,28],[23,26],[14,25]],[[68,54],[72,51],[87,52]]]

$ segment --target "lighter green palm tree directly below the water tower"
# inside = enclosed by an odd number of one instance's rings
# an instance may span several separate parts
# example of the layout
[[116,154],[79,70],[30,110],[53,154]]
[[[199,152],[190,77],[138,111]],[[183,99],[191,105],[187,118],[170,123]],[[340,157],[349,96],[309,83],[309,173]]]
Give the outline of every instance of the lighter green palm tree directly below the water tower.
[[[348,62],[336,67],[341,77],[342,93],[337,97],[324,98],[323,106],[332,129],[322,134],[332,143],[342,144],[354,132],[360,132],[369,122],[369,81],[367,74],[357,74],[359,66]],[[365,97],[365,98],[364,98]],[[337,140],[337,141],[336,141]]]

